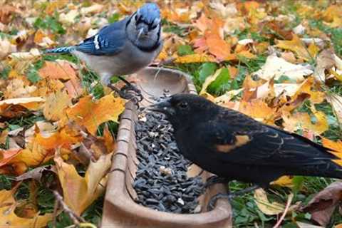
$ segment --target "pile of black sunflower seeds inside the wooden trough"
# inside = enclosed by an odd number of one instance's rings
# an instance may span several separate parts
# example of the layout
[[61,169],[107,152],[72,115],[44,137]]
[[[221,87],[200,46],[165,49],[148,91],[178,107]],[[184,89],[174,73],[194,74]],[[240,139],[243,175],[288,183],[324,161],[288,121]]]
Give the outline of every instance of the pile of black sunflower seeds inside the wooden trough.
[[162,212],[196,213],[204,185],[200,177],[187,177],[190,162],[180,154],[172,132],[165,115],[140,114],[135,124],[140,161],[133,183],[137,201]]

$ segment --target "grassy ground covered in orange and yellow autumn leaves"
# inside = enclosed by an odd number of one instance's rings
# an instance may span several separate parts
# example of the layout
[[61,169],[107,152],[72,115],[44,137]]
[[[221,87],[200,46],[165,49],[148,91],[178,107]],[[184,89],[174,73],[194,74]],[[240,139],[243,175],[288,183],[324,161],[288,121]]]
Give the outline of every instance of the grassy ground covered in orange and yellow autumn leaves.
[[[142,4],[4,1],[0,9],[0,190],[8,197],[0,196],[0,210],[11,213],[0,215],[6,222],[1,225],[13,225],[24,217],[27,226],[33,227],[38,215],[38,227],[73,227],[78,222],[91,227],[100,222],[102,184],[110,166],[103,158],[115,147],[124,100],[103,88],[98,76],[73,56],[46,55],[43,50],[75,45]],[[164,48],[154,65],[189,73],[198,93],[220,105],[342,152],[341,1],[160,0],[157,4]],[[116,81],[113,77],[112,82]],[[94,170],[103,175],[94,175]],[[232,200],[234,227],[273,227],[291,195],[282,227],[339,227],[342,217],[336,195],[342,192],[340,186],[333,187],[335,192],[327,199],[332,215],[322,219],[312,209],[302,209],[335,181],[286,177],[266,193],[237,197]],[[248,186],[229,183],[232,191]],[[66,207],[54,212],[52,190],[63,192],[72,212]],[[83,198],[68,198],[73,190]],[[326,212],[321,199],[314,198],[316,207]],[[52,221],[51,214],[57,213]]]

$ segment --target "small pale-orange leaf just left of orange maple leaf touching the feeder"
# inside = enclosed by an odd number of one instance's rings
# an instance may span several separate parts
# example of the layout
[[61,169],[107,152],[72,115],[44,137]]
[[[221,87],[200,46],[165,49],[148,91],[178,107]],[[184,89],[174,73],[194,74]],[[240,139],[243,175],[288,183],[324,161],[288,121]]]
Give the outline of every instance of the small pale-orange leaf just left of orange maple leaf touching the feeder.
[[51,93],[46,98],[43,115],[46,120],[57,121],[66,117],[65,109],[71,105],[71,98],[65,91]]

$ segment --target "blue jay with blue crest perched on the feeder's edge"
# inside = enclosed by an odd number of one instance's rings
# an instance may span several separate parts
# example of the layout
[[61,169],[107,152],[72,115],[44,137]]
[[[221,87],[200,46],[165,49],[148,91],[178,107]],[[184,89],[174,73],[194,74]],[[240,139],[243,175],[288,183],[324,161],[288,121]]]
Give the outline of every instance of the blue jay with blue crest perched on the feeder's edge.
[[158,56],[162,50],[160,21],[157,4],[147,3],[131,16],[101,28],[95,36],[76,46],[48,49],[46,53],[75,55],[98,73],[103,85],[110,86],[111,76],[135,73]]

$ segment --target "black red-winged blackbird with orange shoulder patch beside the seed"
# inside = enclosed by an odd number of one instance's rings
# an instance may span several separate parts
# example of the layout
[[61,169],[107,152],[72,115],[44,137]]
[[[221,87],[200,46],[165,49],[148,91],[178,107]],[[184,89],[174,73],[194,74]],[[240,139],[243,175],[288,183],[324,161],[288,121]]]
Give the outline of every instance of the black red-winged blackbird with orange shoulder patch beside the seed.
[[[328,148],[199,95],[172,95],[150,110],[167,115],[188,160],[227,180],[255,184],[242,192],[268,187],[283,175],[342,178],[342,167],[334,162],[340,158]],[[231,196],[217,195],[211,203]]]

